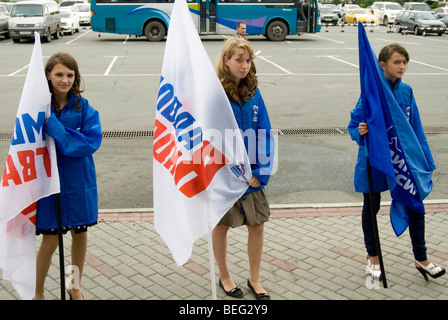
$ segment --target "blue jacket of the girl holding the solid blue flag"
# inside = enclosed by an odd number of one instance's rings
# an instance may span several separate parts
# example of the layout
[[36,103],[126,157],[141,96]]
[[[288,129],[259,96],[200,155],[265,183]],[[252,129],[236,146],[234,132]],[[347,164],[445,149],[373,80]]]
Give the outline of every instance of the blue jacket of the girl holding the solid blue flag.
[[[431,169],[435,170],[436,166],[429,149],[428,141],[426,140],[426,136],[423,131],[423,126],[420,120],[420,115],[418,112],[417,104],[415,102],[414,93],[412,92],[412,88],[408,84],[403,83],[401,79],[399,79],[395,84],[393,84],[390,80],[387,80],[387,82],[392,89],[395,100],[406,115],[409,124],[414,130]],[[367,177],[364,137],[361,137],[358,131],[359,123],[365,122],[365,119],[363,119],[362,116],[361,99],[358,100],[355,109],[351,111],[350,115],[351,120],[348,125],[348,131],[352,140],[356,141],[359,145],[358,162],[355,166],[355,191],[368,193],[369,181]],[[374,192],[382,192],[389,189],[386,177],[383,173],[379,172],[375,168],[372,168],[372,180]]]

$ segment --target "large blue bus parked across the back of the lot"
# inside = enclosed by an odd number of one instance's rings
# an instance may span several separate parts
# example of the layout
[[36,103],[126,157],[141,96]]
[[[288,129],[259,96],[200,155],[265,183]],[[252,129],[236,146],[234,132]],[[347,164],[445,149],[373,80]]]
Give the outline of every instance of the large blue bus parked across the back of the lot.
[[[281,41],[291,34],[319,32],[317,0],[187,0],[200,35],[231,35],[239,21],[248,35]],[[91,0],[93,31],[146,36],[167,34],[174,0]]]

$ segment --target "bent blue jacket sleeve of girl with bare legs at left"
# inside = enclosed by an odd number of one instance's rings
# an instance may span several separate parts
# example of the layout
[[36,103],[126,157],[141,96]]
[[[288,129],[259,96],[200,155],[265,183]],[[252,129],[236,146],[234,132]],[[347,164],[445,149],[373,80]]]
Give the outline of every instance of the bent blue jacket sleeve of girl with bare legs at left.
[[64,127],[54,113],[45,124],[46,133],[55,139],[58,150],[66,156],[85,157],[93,154],[101,145],[99,113],[88,104],[84,108],[84,120],[79,130]]

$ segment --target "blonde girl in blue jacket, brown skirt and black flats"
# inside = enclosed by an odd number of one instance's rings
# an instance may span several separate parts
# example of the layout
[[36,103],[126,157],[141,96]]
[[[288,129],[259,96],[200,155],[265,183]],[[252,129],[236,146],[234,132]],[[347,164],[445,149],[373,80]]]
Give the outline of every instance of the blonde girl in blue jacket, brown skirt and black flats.
[[248,287],[257,300],[270,296],[259,279],[263,250],[263,223],[269,219],[269,203],[263,188],[267,185],[273,165],[274,143],[268,112],[257,88],[258,80],[251,45],[242,38],[230,38],[224,44],[217,65],[217,74],[229,97],[235,119],[246,137],[245,147],[252,169],[252,180],[246,193],[226,213],[212,233],[213,251],[219,268],[219,286],[227,295],[242,297],[226,263],[227,231],[230,227],[247,225],[249,279]]

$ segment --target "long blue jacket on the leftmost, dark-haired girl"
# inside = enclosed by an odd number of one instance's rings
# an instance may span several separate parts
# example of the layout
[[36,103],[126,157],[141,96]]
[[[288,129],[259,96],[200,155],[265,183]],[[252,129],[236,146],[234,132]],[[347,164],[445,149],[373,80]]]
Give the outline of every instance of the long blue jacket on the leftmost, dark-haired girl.
[[[76,96],[71,95],[58,116],[52,113],[45,132],[56,144],[62,226],[88,226],[98,220],[98,195],[95,165],[92,154],[102,141],[98,112],[81,98],[81,109],[74,107]],[[37,202],[37,229],[57,228],[54,195]]]

